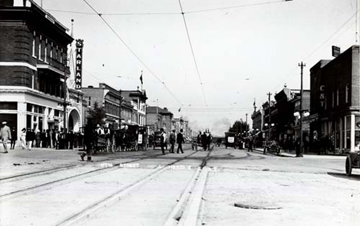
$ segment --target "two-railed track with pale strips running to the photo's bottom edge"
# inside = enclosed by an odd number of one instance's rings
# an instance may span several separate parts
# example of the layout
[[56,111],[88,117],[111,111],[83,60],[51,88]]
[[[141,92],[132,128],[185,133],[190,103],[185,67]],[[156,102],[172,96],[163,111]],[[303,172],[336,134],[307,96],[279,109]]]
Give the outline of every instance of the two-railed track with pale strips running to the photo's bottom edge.
[[[81,211],[78,211],[72,216],[69,216],[68,218],[60,221],[56,225],[79,225],[80,223],[84,223],[84,221],[86,224],[86,221],[89,220],[89,217],[93,213],[96,212],[98,214],[99,212],[106,211],[108,208],[111,208],[115,203],[122,202],[122,200],[134,189],[148,183],[153,178],[159,177],[162,173],[167,171],[170,166],[189,158],[191,155],[197,152],[199,151],[194,151],[193,153],[186,155],[183,158],[166,164],[164,167],[159,168],[152,173],[149,173],[148,175],[140,178],[139,180],[131,183],[130,185],[127,185],[126,187],[122,187],[113,194],[91,204],[90,206],[82,209]],[[165,225],[194,225],[193,223],[196,222],[201,204],[202,193],[207,178],[207,173],[209,170],[206,167],[206,163],[208,158],[210,157],[210,153],[211,151],[207,153],[207,155],[203,158],[201,164],[198,166],[197,170],[193,173],[192,178],[187,183],[184,191],[181,193],[177,204],[167,217]]]

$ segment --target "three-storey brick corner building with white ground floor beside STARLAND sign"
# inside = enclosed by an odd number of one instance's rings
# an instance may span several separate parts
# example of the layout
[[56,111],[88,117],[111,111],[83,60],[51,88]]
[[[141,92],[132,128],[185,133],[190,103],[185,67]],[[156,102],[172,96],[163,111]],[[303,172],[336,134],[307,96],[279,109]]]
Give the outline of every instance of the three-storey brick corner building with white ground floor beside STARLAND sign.
[[[18,137],[24,127],[63,127],[64,59],[73,41],[67,31],[32,0],[0,1],[0,121]],[[69,108],[66,115],[78,119],[81,112]]]

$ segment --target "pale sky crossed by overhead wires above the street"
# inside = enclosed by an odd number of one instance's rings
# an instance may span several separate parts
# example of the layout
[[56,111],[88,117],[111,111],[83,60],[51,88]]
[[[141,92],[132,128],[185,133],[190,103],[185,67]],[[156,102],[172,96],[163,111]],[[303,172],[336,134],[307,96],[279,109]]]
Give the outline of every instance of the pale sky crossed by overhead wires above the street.
[[179,0],[86,2],[42,0],[84,40],[82,85],[135,90],[143,71],[148,105],[214,135],[246,114],[251,125],[254,99],[259,109],[268,92],[300,89],[298,63],[310,89],[310,68],[356,44],[359,27],[357,0],[180,0],[190,46]]

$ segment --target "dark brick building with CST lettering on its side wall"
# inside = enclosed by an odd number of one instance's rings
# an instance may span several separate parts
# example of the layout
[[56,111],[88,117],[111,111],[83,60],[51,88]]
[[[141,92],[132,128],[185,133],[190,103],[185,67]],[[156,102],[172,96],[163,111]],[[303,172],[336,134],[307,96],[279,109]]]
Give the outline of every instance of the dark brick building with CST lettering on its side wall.
[[338,152],[360,149],[359,46],[310,69],[311,141],[325,139]]

